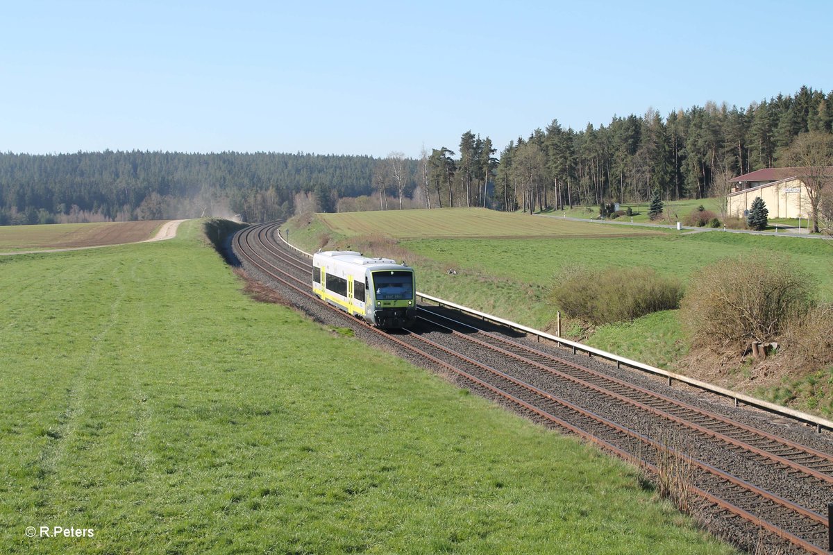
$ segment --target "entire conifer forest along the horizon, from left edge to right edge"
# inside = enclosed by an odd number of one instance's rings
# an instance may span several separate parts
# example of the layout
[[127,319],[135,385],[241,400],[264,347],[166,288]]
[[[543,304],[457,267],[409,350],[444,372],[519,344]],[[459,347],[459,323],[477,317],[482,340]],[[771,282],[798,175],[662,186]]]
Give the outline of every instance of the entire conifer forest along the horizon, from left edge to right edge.
[[297,211],[565,205],[720,196],[727,180],[784,165],[799,134],[831,133],[833,92],[810,87],[749,107],[706,102],[662,116],[613,116],[583,130],[551,121],[496,156],[471,131],[421,158],[272,152],[0,154],[0,225]]

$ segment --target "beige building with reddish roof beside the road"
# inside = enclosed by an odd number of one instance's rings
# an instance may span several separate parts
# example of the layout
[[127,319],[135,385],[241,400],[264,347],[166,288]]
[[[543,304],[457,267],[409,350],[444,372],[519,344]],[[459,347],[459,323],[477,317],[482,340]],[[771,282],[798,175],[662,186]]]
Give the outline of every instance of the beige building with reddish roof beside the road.
[[801,168],[767,168],[737,176],[726,197],[726,214],[744,217],[752,201],[760,196],[770,218],[807,218],[811,215],[807,187],[796,177]]

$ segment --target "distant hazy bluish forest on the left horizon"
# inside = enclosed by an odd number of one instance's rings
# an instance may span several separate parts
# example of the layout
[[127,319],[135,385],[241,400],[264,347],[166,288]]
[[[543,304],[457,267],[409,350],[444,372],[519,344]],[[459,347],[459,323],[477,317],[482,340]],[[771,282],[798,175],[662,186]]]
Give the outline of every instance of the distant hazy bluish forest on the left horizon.
[[[416,161],[403,162],[409,176]],[[0,225],[227,216],[291,216],[298,192],[372,193],[371,156],[103,151],[0,153]],[[412,179],[412,178],[411,178]]]

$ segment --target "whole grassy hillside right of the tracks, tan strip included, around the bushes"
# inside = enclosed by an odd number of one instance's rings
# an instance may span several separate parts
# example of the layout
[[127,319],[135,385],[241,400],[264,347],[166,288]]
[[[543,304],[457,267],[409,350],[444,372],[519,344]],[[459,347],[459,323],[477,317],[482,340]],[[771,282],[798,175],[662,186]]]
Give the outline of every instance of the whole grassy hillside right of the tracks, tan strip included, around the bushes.
[[[558,307],[549,299],[551,285],[570,266],[648,266],[686,285],[691,275],[717,260],[777,257],[806,271],[818,300],[833,301],[830,240],[678,232],[483,209],[319,214],[287,225],[292,242],[307,250],[349,247],[408,260],[417,268],[418,290],[552,332]],[[589,330],[563,319],[562,335],[660,368],[696,372],[677,366],[689,347],[676,310]],[[833,398],[827,394],[833,389],[833,369],[786,376],[784,384],[766,388],[749,379],[748,368],[732,369],[723,378],[728,387],[833,414]]]

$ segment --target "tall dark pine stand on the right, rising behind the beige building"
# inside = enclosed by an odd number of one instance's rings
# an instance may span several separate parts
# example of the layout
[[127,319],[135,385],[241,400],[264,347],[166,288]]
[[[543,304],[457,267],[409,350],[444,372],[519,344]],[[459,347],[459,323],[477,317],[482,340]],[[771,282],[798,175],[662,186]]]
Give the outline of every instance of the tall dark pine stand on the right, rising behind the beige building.
[[614,117],[583,131],[552,121],[546,129],[511,141],[501,152],[495,204],[536,211],[603,201],[666,200],[726,194],[728,179],[785,164],[801,133],[830,133],[833,92],[801,87],[795,96],[748,108],[692,107],[666,118]]

